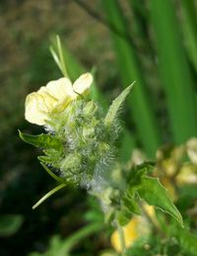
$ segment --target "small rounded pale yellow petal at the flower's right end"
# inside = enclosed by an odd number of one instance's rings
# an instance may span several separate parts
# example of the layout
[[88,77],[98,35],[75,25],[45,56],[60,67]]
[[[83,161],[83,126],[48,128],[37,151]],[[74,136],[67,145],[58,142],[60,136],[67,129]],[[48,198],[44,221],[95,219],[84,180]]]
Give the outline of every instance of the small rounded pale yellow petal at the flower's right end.
[[81,75],[73,84],[73,89],[78,94],[87,93],[93,83],[93,75],[86,73]]

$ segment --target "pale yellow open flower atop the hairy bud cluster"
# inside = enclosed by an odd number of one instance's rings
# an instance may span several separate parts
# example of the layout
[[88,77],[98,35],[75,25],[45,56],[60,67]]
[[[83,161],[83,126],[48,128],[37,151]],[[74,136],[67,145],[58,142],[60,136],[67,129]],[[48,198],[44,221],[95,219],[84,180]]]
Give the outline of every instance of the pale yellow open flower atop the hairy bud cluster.
[[86,94],[93,82],[91,73],[81,75],[72,85],[68,78],[50,81],[26,99],[26,120],[38,126],[45,125],[51,112],[61,112],[79,95]]

